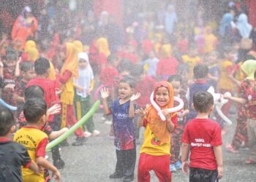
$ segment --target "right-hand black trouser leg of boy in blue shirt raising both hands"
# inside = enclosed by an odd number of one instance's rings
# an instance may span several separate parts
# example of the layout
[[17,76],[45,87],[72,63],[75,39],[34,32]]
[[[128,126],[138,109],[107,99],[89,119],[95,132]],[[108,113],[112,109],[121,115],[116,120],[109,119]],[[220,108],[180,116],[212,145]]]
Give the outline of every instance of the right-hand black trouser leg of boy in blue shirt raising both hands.
[[[135,146],[136,147],[136,146]],[[123,167],[124,167],[124,177],[134,178],[135,163],[136,163],[136,148],[130,150],[124,150],[123,157]]]

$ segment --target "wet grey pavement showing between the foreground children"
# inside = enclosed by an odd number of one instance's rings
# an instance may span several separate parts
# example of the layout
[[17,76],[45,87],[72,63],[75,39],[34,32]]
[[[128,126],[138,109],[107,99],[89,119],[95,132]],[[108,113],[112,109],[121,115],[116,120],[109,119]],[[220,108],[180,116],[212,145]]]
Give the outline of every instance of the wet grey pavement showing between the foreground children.
[[[61,157],[66,162],[66,166],[61,171],[63,182],[118,182],[121,179],[112,180],[109,175],[114,172],[116,165],[116,154],[113,146],[113,139],[108,137],[110,131],[110,125],[104,124],[100,120],[101,114],[94,114],[94,123],[97,130],[101,132],[101,135],[97,137],[91,137],[87,141],[85,146],[67,146],[61,147]],[[235,118],[235,115],[233,115]],[[241,150],[238,154],[231,154],[225,150],[225,143],[230,142],[233,137],[234,128],[236,123],[231,127],[227,135],[223,137],[223,159],[225,165],[225,172],[222,178],[222,182],[231,181],[256,181],[256,165],[246,165],[246,155],[248,150]],[[140,130],[143,137],[143,130]],[[143,138],[140,138],[140,142]],[[69,143],[75,140],[75,136],[68,138]],[[140,145],[137,146],[138,157],[140,151]],[[50,153],[48,153],[50,156]],[[50,157],[51,158],[51,157]],[[137,178],[137,169],[135,167],[135,181]],[[151,173],[151,181],[158,181],[156,175]],[[173,173],[173,181],[183,182],[189,181],[187,175],[178,170]]]

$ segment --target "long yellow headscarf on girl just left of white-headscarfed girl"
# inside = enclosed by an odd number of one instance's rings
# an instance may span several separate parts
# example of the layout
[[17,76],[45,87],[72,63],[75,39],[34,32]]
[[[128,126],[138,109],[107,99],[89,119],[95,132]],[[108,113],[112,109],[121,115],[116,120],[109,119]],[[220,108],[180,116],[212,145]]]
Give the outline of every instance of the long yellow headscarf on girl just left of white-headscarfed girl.
[[66,44],[66,47],[66,60],[61,68],[61,74],[64,74],[64,71],[69,70],[75,78],[78,78],[78,49],[74,44],[69,42]]

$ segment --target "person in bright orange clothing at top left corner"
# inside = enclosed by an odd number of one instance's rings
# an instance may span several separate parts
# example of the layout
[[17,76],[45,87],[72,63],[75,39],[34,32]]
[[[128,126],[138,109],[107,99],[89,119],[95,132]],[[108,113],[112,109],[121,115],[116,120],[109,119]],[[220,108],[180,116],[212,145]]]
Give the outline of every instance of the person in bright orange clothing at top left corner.
[[19,37],[24,45],[28,36],[34,36],[37,27],[37,19],[31,15],[31,8],[24,7],[23,12],[15,20],[12,27],[12,40]]

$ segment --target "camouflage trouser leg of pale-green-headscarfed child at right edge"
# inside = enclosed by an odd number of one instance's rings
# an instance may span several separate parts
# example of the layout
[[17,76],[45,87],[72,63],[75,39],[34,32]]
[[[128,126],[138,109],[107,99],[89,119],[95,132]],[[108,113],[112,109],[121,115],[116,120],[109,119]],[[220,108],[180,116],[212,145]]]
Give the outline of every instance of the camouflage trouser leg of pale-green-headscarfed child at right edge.
[[256,162],[256,119],[247,119],[247,131],[249,138],[249,150],[250,156],[249,159],[251,162],[246,163],[255,163]]

